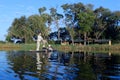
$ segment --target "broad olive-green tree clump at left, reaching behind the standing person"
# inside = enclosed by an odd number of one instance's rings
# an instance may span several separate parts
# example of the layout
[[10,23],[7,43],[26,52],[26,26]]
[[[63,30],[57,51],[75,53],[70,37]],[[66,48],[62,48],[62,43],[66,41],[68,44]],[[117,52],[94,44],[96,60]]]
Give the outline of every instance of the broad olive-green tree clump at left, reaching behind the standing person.
[[30,43],[33,41],[33,37],[37,35],[39,32],[42,33],[42,36],[45,38],[48,36],[48,32],[46,32],[46,20],[43,16],[32,15],[28,18],[21,17],[19,19],[15,19],[8,30],[7,40],[10,41],[10,37],[24,39],[25,43]]

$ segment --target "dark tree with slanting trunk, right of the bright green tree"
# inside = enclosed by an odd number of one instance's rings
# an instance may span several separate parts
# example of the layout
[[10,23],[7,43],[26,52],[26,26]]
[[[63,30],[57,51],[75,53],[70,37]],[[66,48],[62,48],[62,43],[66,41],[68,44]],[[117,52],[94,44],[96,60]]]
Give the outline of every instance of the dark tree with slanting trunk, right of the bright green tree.
[[107,25],[109,22],[108,18],[111,15],[111,12],[109,11],[109,9],[99,7],[94,10],[94,13],[96,18],[95,18],[93,31],[94,31],[95,38],[99,39],[100,37],[102,37],[102,34],[108,27]]

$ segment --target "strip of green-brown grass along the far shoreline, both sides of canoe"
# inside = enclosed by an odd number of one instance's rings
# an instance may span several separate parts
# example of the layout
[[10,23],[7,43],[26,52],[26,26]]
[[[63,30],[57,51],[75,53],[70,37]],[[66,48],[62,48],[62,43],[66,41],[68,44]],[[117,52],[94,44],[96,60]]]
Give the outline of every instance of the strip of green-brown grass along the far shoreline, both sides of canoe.
[[[119,53],[120,52],[120,44],[91,44],[91,45],[60,45],[60,44],[51,44],[55,50],[63,51],[63,52],[111,52],[111,53]],[[40,47],[42,48],[42,47]],[[19,50],[19,51],[31,51],[36,50],[36,44],[13,44],[13,43],[0,43],[0,50]]]

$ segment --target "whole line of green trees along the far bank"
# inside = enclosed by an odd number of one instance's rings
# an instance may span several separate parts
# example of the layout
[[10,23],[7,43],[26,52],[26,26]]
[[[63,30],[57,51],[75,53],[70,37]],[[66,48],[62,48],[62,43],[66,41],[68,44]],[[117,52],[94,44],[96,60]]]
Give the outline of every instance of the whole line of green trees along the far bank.
[[[29,17],[15,18],[9,27],[6,40],[12,42],[21,39],[24,43],[32,43],[39,32],[48,40],[84,40],[110,39],[120,40],[120,11],[110,11],[99,7],[93,9],[92,4],[83,3],[61,5],[63,13],[58,9],[39,8],[39,14]],[[52,32],[52,27],[57,31]]]

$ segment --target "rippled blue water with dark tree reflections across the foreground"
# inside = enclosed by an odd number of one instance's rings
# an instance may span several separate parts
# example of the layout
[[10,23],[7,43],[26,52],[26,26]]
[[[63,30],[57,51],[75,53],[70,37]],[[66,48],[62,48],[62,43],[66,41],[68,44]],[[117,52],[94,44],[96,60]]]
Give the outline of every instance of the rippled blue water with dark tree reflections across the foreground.
[[120,80],[120,54],[0,51],[0,80]]

